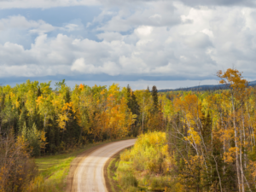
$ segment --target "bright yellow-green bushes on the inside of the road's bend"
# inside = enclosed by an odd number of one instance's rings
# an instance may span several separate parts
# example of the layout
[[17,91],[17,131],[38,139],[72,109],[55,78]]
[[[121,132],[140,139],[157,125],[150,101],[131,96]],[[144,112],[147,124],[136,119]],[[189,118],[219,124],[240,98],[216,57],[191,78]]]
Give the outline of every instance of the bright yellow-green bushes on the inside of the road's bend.
[[181,192],[183,186],[170,172],[166,133],[151,132],[138,137],[131,149],[120,154],[117,179],[122,191]]

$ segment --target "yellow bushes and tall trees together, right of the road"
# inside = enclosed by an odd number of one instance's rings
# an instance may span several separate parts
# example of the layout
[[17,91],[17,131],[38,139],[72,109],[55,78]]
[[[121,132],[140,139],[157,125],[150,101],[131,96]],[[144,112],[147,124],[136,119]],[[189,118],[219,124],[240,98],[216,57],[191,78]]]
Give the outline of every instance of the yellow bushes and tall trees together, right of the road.
[[236,69],[217,75],[225,90],[159,97],[166,131],[140,136],[120,155],[126,191],[256,191],[256,90]]

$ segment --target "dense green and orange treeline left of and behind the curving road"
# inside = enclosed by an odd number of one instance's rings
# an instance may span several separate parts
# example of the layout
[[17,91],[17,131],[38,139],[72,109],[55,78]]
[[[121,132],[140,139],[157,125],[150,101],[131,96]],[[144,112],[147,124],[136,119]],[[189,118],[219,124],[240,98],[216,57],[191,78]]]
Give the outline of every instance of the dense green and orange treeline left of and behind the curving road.
[[[10,130],[26,138],[32,155],[55,154],[85,143],[154,130],[161,115],[157,90],[120,90],[118,84],[71,90],[65,80],[55,84],[25,84],[0,87],[0,133]],[[159,113],[159,114],[158,114]],[[157,114],[157,115],[155,115]],[[157,118],[156,118],[157,117]]]

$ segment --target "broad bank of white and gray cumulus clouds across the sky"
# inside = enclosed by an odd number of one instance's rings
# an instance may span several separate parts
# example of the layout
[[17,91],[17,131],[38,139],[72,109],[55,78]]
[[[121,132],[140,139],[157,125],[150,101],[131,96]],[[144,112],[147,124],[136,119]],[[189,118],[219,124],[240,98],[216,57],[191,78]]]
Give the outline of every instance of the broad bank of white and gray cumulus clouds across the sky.
[[[212,79],[217,70],[235,65],[253,78],[255,9],[198,9],[170,1],[140,3],[143,7],[133,11],[102,9],[102,15],[87,25],[98,39],[72,33],[81,29],[79,24],[52,26],[24,16],[0,19],[0,35],[17,29],[37,36],[29,49],[10,41],[0,44],[0,76],[201,80]],[[106,15],[108,20],[104,20]],[[49,36],[48,32],[58,34]]]

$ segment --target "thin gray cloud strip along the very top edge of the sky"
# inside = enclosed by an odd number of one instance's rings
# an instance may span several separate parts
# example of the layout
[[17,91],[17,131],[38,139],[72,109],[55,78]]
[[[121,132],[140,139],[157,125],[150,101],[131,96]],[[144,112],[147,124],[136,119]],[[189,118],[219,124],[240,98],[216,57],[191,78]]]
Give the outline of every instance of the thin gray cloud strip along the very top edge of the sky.
[[[31,9],[42,8],[49,9],[55,7],[69,7],[69,6],[103,6],[107,8],[129,8],[145,6],[145,3],[172,3],[182,2],[186,5],[198,6],[247,6],[254,7],[256,5],[254,0],[1,0],[0,9]],[[166,9],[170,9],[166,7]]]

